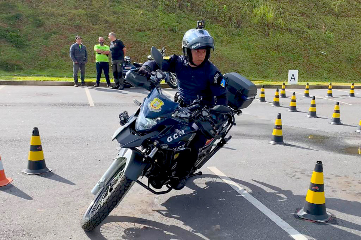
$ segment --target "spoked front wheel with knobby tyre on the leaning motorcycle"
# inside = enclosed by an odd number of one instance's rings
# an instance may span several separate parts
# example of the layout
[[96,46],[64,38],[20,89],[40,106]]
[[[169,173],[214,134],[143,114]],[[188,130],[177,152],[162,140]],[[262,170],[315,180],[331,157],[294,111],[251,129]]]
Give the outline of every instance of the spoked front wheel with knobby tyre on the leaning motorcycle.
[[109,179],[106,186],[95,196],[82,219],[82,228],[91,231],[96,228],[127,194],[134,181],[124,174],[126,161]]

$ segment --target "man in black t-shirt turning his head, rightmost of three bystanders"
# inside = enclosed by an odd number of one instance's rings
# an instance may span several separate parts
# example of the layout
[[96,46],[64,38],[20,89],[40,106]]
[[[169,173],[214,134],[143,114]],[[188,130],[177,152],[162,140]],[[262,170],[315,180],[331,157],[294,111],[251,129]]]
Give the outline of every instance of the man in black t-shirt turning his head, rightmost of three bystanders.
[[112,53],[112,69],[114,76],[115,85],[112,87],[113,89],[119,88],[119,90],[124,89],[124,81],[123,81],[123,63],[124,56],[127,53],[127,49],[125,48],[123,42],[115,36],[114,32],[110,32],[108,35],[110,40],[110,52]]

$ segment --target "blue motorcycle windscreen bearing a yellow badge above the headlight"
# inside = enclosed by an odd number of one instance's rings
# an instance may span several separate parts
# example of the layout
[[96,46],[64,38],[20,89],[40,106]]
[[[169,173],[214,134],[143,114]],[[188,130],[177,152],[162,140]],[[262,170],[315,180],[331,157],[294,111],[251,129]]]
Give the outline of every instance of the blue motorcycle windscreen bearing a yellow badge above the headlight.
[[157,89],[153,89],[143,104],[142,111],[144,116],[151,119],[169,116],[179,105],[168,99],[165,95],[159,94]]

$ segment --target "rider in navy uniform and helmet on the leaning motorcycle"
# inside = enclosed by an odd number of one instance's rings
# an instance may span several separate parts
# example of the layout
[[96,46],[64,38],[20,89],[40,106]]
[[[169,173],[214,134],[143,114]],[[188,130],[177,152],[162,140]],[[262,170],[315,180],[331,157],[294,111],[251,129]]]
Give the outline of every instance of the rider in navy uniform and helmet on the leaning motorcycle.
[[[162,70],[173,72],[178,78],[178,90],[181,97],[181,106],[190,105],[198,96],[202,97],[200,105],[214,106],[227,105],[225,80],[223,75],[212,62],[209,61],[210,50],[214,50],[214,39],[208,31],[204,30],[204,21],[198,21],[197,28],[188,30],[183,36],[183,55],[164,57]],[[148,78],[152,71],[158,69],[155,61],[148,61],[139,69],[139,74]],[[215,101],[217,99],[217,102]],[[195,161],[198,158],[199,149],[205,145],[207,138],[197,132],[191,141],[191,152],[182,157],[184,161],[178,166],[176,174],[179,180],[173,184],[175,190],[181,190],[186,184]]]

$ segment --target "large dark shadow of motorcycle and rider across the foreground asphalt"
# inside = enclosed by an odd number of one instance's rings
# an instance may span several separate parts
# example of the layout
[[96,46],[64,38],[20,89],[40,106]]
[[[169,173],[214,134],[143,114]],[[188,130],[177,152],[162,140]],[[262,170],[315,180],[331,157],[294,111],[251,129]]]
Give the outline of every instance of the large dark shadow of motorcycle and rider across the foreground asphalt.
[[[360,239],[360,236],[343,230],[349,228],[361,231],[360,225],[335,215],[327,223],[315,223],[298,218],[295,213],[303,207],[304,195],[294,195],[290,190],[282,190],[280,187],[256,180],[253,181],[274,192],[266,192],[255,184],[239,179],[231,180],[242,185],[284,221],[308,236],[315,239],[344,239],[345,236],[348,240]],[[86,232],[86,235],[92,240],[200,240],[203,238],[196,235],[200,233],[210,240],[239,240],[264,239],[262,234],[271,228],[274,235],[268,234],[269,239],[274,239],[273,236],[277,236],[278,240],[292,239],[217,175],[203,174],[191,178],[186,186],[194,192],[171,196],[161,203],[163,209],[153,211],[166,218],[183,222],[185,226],[192,228],[192,232],[143,218],[109,216],[95,230]],[[334,209],[345,214],[361,216],[361,203],[356,201],[326,198],[326,207],[328,211]],[[332,213],[332,210],[330,212]]]

